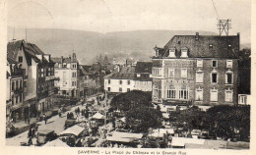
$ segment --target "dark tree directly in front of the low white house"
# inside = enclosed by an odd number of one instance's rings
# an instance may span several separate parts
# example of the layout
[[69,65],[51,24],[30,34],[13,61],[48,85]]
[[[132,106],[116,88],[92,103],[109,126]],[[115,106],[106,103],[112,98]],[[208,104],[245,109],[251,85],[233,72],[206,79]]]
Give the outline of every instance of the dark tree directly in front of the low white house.
[[121,93],[111,100],[110,107],[113,110],[128,111],[131,108],[141,105],[152,107],[151,92],[133,90],[126,93]]

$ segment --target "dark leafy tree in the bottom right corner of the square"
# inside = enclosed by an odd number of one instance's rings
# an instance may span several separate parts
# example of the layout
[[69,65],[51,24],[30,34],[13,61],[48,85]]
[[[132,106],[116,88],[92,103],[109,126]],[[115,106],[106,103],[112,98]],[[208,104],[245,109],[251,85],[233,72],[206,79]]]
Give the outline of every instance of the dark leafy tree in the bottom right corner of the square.
[[250,106],[215,106],[207,111],[207,120],[212,136],[226,139],[234,138],[238,134],[240,140],[249,140]]

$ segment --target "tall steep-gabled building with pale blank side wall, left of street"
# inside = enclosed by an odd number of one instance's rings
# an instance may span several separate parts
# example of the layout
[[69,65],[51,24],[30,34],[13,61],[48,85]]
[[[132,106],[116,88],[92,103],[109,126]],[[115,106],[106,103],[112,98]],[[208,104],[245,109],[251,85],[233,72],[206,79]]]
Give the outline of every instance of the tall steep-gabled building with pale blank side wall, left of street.
[[18,62],[24,73],[23,116],[36,117],[52,105],[50,94],[54,92],[54,63],[35,44],[25,40],[11,41],[7,56]]

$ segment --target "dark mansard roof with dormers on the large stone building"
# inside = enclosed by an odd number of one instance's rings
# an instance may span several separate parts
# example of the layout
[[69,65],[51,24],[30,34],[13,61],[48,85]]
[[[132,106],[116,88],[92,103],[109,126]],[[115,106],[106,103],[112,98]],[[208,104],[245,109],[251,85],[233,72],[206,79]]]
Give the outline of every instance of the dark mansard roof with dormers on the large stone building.
[[159,58],[162,58],[168,56],[170,48],[175,48],[177,58],[181,55],[181,48],[187,48],[189,58],[236,59],[239,35],[174,35],[163,48],[155,47],[155,50],[159,49]]

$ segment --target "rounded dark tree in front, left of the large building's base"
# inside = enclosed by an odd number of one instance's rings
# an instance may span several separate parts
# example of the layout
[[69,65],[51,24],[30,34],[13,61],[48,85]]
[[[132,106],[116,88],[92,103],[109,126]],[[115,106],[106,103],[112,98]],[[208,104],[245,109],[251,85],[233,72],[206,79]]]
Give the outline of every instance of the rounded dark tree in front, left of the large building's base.
[[162,115],[157,109],[141,105],[125,113],[126,124],[134,132],[147,132],[149,128],[160,128]]

